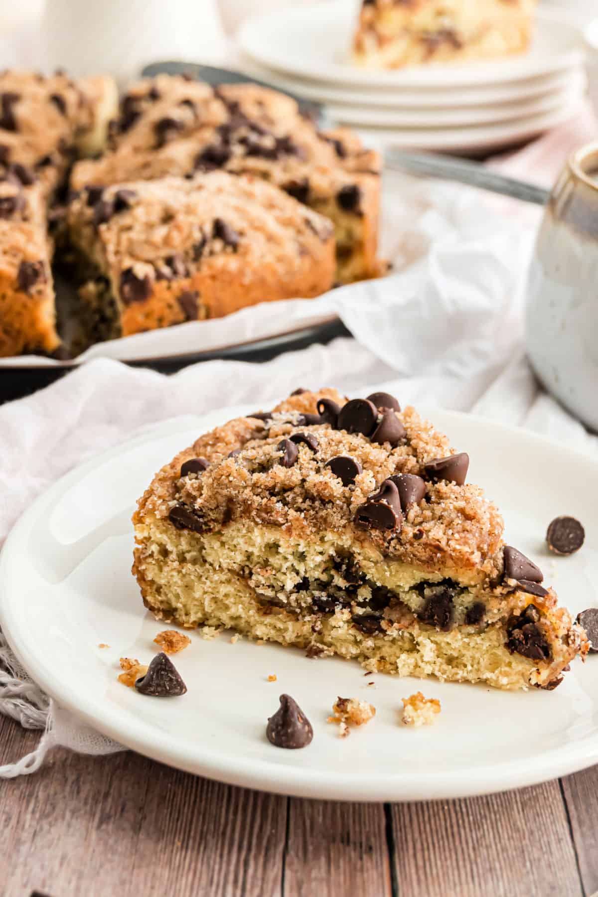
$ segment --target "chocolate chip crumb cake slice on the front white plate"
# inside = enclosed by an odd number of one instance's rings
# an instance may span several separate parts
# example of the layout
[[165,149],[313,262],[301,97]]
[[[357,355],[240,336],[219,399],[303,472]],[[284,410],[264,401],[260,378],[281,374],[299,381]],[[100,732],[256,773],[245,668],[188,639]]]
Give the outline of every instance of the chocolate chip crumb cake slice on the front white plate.
[[585,632],[468,463],[393,396],[298,390],[154,477],[134,514],[143,602],[368,670],[553,689]]

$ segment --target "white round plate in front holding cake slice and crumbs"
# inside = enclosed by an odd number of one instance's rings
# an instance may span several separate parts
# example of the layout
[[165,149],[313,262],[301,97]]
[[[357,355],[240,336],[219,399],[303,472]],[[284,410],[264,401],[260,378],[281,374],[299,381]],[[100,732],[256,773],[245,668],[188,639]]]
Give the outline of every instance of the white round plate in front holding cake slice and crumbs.
[[[598,762],[598,657],[576,661],[554,692],[363,675],[357,664],[190,633],[174,658],[188,692],[144,698],[117,683],[118,658],[148,661],[165,628],[143,609],[131,576],[134,501],[162,464],[202,431],[251,409],[167,422],[75,469],[22,516],[0,557],[0,622],[35,680],[123,745],[182,770],[249,788],[339,800],[414,800],[532,785]],[[596,601],[598,463],[523,430],[465,414],[429,416],[472,457],[470,479],[505,516],[507,539],[542,565],[573,614]],[[552,561],[551,518],[573,514],[584,548]],[[100,643],[108,649],[100,649]],[[277,676],[268,683],[267,676]],[[368,682],[374,681],[374,686]],[[399,724],[401,698],[439,698],[435,726]],[[266,719],[289,692],[314,727],[312,745],[283,751]],[[371,701],[377,716],[342,739],[326,723],[336,696]]]

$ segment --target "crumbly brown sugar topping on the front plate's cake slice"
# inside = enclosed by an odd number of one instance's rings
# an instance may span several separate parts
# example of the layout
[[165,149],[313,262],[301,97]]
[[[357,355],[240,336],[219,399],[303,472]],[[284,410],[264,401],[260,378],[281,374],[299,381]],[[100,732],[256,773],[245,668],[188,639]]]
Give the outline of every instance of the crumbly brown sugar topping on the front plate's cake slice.
[[[400,444],[378,444],[359,432],[335,430],[330,424],[304,424],[302,414],[315,414],[317,402],[346,400],[335,390],[291,396],[267,421],[241,418],[217,428],[163,468],[140,504],[144,514],[166,518],[175,506],[192,509],[210,531],[234,520],[282,527],[289,536],[308,538],[322,530],[353,536],[383,557],[436,569],[476,568],[486,577],[502,571],[499,549],[503,523],[479,486],[425,481],[425,497],[405,509],[401,527],[362,528],[356,514],[393,475],[421,475],[437,457],[454,453],[446,436],[424,422],[412,408],[394,412],[403,424]],[[300,434],[311,434],[316,449]],[[283,440],[296,440],[297,459],[284,466]],[[234,452],[232,457],[230,453]],[[328,466],[335,457],[349,457],[360,467],[345,485]],[[201,475],[180,477],[190,457],[204,457],[210,466]]]

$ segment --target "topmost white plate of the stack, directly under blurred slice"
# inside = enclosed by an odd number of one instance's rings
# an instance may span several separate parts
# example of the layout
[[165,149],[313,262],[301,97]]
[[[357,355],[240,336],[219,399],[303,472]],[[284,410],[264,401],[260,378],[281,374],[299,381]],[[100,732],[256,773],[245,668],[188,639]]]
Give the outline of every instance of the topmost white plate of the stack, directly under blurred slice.
[[538,14],[527,53],[466,65],[418,65],[393,71],[351,65],[354,9],[344,0],[291,6],[252,18],[238,34],[243,53],[261,65],[303,78],[368,87],[464,87],[504,84],[562,72],[583,61],[579,30]]

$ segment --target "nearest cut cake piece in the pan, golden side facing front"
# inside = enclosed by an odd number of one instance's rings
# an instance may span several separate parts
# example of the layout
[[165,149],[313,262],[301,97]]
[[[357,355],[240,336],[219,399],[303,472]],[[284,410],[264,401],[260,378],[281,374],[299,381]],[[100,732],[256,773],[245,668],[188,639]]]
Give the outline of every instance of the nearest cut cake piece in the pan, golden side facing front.
[[334,282],[331,223],[223,171],[86,187],[68,229],[90,341],[308,298]]

